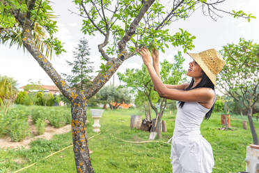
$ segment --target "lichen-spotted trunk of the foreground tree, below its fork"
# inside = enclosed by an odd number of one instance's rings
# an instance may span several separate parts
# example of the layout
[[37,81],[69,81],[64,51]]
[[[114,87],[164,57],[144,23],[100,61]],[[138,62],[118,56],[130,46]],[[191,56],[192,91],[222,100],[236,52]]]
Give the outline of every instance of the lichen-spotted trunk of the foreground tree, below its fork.
[[77,172],[93,172],[88,150],[86,134],[86,102],[74,101],[71,104],[72,114],[72,139],[74,146],[74,160]]

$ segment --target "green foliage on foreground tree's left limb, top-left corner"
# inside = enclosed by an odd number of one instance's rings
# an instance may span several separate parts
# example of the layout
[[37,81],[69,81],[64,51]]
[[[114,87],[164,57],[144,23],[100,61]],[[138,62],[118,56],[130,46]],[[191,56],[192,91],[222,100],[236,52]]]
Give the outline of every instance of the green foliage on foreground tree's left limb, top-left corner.
[[52,57],[53,52],[57,55],[65,52],[63,43],[54,38],[54,33],[58,31],[58,28],[56,21],[53,20],[55,15],[49,4],[50,1],[36,1],[31,10],[27,8],[26,3],[27,1],[18,0],[0,2],[1,43],[8,43],[10,46],[17,45],[18,48],[24,46],[22,44],[24,21],[15,19],[12,13],[13,10],[19,10],[18,15],[24,15],[24,17],[29,15],[33,40],[42,53],[45,52],[47,57]]

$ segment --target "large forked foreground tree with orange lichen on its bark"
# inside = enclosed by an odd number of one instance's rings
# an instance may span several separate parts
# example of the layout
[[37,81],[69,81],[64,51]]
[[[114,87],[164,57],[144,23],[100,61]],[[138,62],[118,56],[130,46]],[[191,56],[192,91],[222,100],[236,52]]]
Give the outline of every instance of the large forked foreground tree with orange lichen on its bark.
[[[79,15],[84,17],[82,31],[88,36],[96,32],[104,36],[104,41],[98,45],[98,49],[102,58],[107,61],[100,66],[100,73],[93,79],[91,87],[77,91],[69,87],[47,59],[52,57],[52,52],[56,55],[65,52],[63,44],[54,38],[58,29],[49,3],[48,0],[0,0],[0,42],[28,50],[63,96],[70,100],[77,172],[93,172],[86,137],[87,100],[104,86],[126,59],[136,54],[139,45],[154,43],[159,50],[164,50],[164,46],[167,47],[168,44],[182,46],[185,51],[191,49],[194,47],[192,41],[195,37],[183,30],[172,35],[165,28],[175,20],[185,20],[198,6],[203,6],[203,13],[213,19],[217,13],[229,13],[248,20],[253,17],[241,10],[221,10],[217,5],[223,1],[217,0],[173,0],[166,4],[155,0],[74,0],[75,5],[79,7]],[[110,40],[113,41],[108,45]]]

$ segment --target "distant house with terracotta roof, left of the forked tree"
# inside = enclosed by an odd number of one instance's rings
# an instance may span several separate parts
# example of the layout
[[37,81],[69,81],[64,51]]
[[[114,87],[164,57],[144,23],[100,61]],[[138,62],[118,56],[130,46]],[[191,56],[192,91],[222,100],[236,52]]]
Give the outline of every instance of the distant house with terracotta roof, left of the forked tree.
[[59,91],[58,87],[55,85],[25,85],[23,87],[19,87],[21,91],[24,91],[26,89],[29,92],[37,92],[37,91],[43,91],[45,93],[52,93],[53,95],[59,95],[61,94],[61,91]]

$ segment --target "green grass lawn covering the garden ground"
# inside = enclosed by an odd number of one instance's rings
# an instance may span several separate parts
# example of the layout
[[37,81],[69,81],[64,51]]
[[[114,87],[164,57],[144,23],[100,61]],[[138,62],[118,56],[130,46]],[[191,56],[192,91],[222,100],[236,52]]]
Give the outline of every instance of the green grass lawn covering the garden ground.
[[[91,162],[95,172],[171,172],[171,145],[150,142],[146,144],[130,144],[116,139],[141,141],[148,140],[149,133],[130,129],[130,115],[139,114],[138,110],[106,110],[100,119],[101,134],[89,140],[89,148],[93,151]],[[90,114],[90,110],[87,110]],[[143,117],[144,115],[141,114]],[[152,116],[154,117],[154,115]],[[164,114],[167,133],[162,133],[166,142],[173,134],[175,114]],[[88,116],[88,137],[95,135],[92,131],[93,119]],[[209,121],[203,121],[201,133],[210,142],[214,152],[215,165],[213,172],[238,172],[245,170],[244,159],[246,146],[251,144],[250,129],[242,129],[241,116],[231,116],[233,130],[218,130],[220,114],[212,114]],[[255,127],[259,122],[254,121]],[[249,124],[248,124],[249,128]],[[256,129],[259,134],[259,128]],[[0,172],[13,172],[26,165],[38,161],[33,167],[23,172],[76,172],[72,147],[44,159],[54,151],[58,151],[72,143],[72,134],[55,135],[52,140],[35,142],[31,149],[0,150]],[[17,161],[18,160],[18,161]]]

